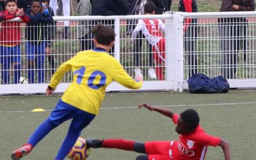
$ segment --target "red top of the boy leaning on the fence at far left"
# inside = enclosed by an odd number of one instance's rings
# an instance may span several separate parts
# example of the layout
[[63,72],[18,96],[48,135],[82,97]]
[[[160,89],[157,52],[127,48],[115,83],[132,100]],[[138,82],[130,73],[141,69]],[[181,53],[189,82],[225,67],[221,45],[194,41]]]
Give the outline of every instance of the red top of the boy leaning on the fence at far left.
[[[15,13],[10,14],[7,10],[3,10],[0,13],[1,20],[14,19],[16,17]],[[29,22],[29,17],[26,14],[23,17],[19,16],[19,18],[24,22]],[[0,45],[14,46],[19,44],[20,22],[1,22]]]

